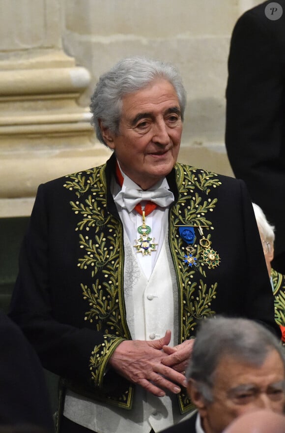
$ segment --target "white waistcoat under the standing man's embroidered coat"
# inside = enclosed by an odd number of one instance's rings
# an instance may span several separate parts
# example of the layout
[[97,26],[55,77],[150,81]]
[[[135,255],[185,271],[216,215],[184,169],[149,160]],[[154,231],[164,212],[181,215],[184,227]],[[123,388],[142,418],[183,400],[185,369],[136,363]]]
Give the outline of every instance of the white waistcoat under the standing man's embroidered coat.
[[[159,339],[171,329],[170,344],[177,344],[178,314],[174,314],[178,311],[177,283],[167,240],[149,280],[127,236],[124,236],[124,248],[124,295],[132,338]],[[67,391],[64,405],[64,416],[98,433],[149,433],[151,429],[159,432],[189,415],[180,414],[175,395],[167,393],[159,398],[141,387],[136,387],[130,411],[94,402],[71,391]]]

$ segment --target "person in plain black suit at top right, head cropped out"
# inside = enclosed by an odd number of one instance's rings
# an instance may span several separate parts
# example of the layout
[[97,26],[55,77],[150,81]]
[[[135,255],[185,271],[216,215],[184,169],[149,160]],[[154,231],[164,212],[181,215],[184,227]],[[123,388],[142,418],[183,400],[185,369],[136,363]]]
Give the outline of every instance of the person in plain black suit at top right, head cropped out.
[[272,266],[285,274],[285,0],[270,3],[245,12],[232,32],[226,148],[234,175],[276,228]]

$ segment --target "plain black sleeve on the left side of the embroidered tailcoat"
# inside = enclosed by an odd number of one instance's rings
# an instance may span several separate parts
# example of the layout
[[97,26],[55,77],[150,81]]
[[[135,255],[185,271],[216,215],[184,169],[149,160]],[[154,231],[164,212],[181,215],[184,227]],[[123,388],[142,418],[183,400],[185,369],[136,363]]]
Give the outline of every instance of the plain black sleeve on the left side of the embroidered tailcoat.
[[[51,199],[46,188],[39,187],[20,251],[9,315],[21,327],[47,370],[90,387],[98,385],[91,381],[91,352],[104,342],[104,337],[103,332],[85,326],[80,316],[72,286],[71,271],[76,265],[68,267],[74,254],[70,244],[65,247],[67,235],[62,233],[70,218],[69,214],[64,216],[60,200],[56,203],[55,197],[56,193]],[[60,212],[55,213],[53,208]],[[67,228],[66,233],[71,237],[73,231],[74,228]],[[58,253],[56,249],[61,246]],[[63,255],[66,267],[61,264],[60,268],[56,263]],[[76,286],[75,281],[73,285]]]

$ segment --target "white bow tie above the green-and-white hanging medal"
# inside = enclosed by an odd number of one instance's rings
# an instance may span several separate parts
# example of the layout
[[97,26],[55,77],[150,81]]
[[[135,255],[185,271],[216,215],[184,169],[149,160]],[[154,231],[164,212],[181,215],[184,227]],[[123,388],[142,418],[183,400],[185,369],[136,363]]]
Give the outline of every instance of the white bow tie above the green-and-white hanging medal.
[[131,212],[134,207],[141,203],[141,201],[152,201],[162,208],[166,208],[174,201],[174,196],[169,189],[157,188],[149,191],[142,191],[142,189],[128,188],[124,191],[119,191],[114,197],[114,201],[122,208]]

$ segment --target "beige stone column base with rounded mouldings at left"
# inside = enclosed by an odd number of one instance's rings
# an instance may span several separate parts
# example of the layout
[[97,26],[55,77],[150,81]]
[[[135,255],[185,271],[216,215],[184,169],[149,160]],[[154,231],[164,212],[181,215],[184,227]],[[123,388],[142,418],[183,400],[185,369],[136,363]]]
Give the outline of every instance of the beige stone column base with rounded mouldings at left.
[[1,0],[0,216],[29,215],[37,186],[106,160],[95,143],[90,82],[61,45],[60,0]]

